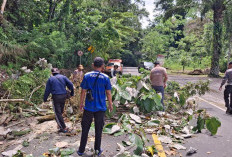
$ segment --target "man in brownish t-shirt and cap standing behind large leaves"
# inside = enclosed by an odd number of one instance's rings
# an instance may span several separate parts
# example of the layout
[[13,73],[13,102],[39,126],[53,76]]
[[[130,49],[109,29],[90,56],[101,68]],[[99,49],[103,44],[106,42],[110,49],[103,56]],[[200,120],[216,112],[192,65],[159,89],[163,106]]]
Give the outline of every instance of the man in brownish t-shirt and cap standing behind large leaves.
[[162,94],[161,103],[164,108],[164,88],[166,88],[166,83],[168,80],[167,71],[164,67],[161,67],[160,62],[156,61],[154,63],[155,67],[151,70],[150,80],[152,84],[152,88],[156,92],[160,92]]

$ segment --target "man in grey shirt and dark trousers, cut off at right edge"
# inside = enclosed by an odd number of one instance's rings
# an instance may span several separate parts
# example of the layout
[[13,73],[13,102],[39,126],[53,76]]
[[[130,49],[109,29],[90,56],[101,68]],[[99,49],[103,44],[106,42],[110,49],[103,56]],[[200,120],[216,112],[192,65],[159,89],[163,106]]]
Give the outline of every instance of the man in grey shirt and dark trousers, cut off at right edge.
[[[221,86],[219,87],[219,90],[222,90],[223,85],[226,83],[224,90],[224,100],[225,100],[225,106],[227,107],[226,113],[231,114],[232,113],[232,62],[229,63],[228,69],[225,72],[225,76],[223,77]],[[230,100],[229,100],[230,97]]]

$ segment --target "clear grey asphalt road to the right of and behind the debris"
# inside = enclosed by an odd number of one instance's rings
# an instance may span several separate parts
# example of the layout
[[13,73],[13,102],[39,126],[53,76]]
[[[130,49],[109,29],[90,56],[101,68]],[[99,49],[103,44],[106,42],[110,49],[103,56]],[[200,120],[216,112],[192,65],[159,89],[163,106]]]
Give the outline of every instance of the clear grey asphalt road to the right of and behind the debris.
[[[139,75],[137,68],[127,67],[125,72]],[[221,121],[221,127],[215,136],[211,136],[207,130],[203,130],[202,133],[185,140],[183,145],[187,149],[190,147],[197,149],[197,153],[191,155],[193,157],[232,157],[232,116],[225,114],[226,108],[223,99],[224,88],[222,91],[218,90],[221,78],[180,74],[169,75],[169,81],[176,81],[181,85],[199,80],[210,80],[210,91],[199,97],[199,108],[206,109],[207,113],[211,116],[218,117]],[[180,152],[182,156],[186,156],[187,150]]]

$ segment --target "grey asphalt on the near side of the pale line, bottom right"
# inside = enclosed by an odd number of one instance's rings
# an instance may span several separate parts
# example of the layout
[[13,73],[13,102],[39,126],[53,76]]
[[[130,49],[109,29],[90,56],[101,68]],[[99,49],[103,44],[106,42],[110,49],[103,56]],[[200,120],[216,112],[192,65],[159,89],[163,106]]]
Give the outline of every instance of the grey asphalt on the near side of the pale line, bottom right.
[[[210,104],[208,101],[199,102],[199,108],[206,109],[211,116],[216,116],[221,121],[221,127],[215,136],[204,130],[195,137],[185,140],[184,146],[196,148],[197,153],[193,157],[231,157],[232,156],[232,116],[225,114],[225,110]],[[186,150],[181,151],[186,156]]]

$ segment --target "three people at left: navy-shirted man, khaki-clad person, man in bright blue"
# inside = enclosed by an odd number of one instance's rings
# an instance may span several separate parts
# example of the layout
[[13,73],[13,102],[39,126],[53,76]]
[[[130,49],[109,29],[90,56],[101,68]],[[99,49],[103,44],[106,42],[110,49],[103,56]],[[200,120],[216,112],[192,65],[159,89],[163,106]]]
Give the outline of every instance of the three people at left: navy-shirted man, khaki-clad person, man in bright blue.
[[[92,66],[94,70],[84,75],[83,66],[80,65],[71,77],[73,83],[66,76],[61,75],[57,68],[53,68],[51,70],[52,76],[47,81],[44,93],[44,102],[46,102],[48,96],[52,94],[53,109],[55,112],[56,122],[59,127],[59,132],[67,133],[70,132],[70,130],[66,127],[62,116],[68,95],[66,87],[70,90],[71,97],[74,96],[74,93],[78,93],[80,91],[79,87],[81,87],[80,101],[76,101],[80,103],[79,109],[83,111],[81,121],[81,141],[80,147],[77,151],[79,156],[84,154],[93,118],[95,123],[94,149],[96,155],[100,156],[102,154],[101,136],[104,126],[105,112],[107,108],[110,112],[113,108],[110,78],[106,74],[102,73],[104,69],[104,60],[100,57],[96,57]],[[89,97],[91,97],[91,99]],[[106,105],[106,97],[108,106]]]

